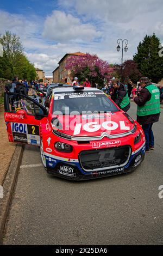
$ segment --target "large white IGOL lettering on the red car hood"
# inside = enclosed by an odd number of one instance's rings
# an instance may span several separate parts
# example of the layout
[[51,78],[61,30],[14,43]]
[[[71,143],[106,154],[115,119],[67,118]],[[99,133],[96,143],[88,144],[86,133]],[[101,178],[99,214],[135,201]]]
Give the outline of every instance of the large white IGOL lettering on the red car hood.
[[81,129],[87,132],[96,132],[96,131],[99,131],[101,128],[108,131],[113,131],[113,130],[116,130],[117,128],[119,128],[120,130],[127,130],[127,131],[130,130],[130,127],[126,126],[124,121],[119,121],[119,124],[116,123],[115,121],[105,121],[102,124],[98,124],[98,122],[90,122],[90,123],[84,124],[83,127],[81,123],[77,124],[74,128],[73,135],[80,134]]

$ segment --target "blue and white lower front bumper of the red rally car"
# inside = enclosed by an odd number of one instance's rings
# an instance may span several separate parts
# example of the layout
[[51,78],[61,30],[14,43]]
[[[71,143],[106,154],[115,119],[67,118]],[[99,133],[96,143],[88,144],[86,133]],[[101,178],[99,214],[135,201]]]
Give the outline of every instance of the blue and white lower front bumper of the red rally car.
[[[55,156],[54,156],[55,157]],[[122,173],[128,173],[136,169],[144,160],[145,157],[145,143],[136,151],[131,152],[127,163],[123,166],[112,166],[108,168],[93,169],[85,171],[79,161],[73,160],[64,161],[64,159],[55,159],[49,154],[46,156],[46,170],[48,174],[59,176],[60,178],[68,180],[89,180],[103,178]]]

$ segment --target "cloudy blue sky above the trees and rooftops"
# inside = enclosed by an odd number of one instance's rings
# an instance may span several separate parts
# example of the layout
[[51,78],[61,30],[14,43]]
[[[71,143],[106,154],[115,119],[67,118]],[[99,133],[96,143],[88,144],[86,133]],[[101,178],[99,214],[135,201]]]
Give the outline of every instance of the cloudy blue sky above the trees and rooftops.
[[129,41],[123,60],[133,58],[146,34],[163,42],[162,13],[162,0],[1,0],[0,34],[19,35],[30,62],[52,76],[68,52],[120,63],[118,38]]

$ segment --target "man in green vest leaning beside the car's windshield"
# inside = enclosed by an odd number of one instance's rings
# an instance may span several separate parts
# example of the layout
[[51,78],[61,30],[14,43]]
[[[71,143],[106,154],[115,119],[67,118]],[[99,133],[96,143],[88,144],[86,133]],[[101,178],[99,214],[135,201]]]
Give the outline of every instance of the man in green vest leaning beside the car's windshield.
[[128,93],[124,85],[117,79],[112,80],[112,85],[116,90],[116,100],[115,103],[120,107],[124,112],[127,112],[130,108],[130,100]]

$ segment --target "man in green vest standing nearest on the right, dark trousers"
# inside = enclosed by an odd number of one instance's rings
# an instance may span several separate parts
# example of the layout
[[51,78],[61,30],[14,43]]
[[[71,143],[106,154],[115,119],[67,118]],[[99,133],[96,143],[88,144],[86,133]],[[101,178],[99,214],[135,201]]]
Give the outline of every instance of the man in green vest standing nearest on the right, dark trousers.
[[142,125],[146,137],[146,152],[149,152],[149,149],[154,149],[152,125],[160,117],[160,92],[148,77],[140,78],[140,86],[140,95],[133,97],[137,104],[137,122]]

